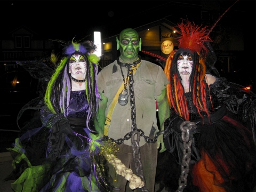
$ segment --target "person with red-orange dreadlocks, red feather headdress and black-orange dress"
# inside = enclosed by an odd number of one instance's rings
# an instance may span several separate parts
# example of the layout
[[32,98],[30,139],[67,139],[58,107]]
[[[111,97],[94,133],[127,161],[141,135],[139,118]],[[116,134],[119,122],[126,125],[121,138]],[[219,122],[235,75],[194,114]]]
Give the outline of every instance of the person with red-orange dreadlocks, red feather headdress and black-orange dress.
[[164,143],[173,156],[166,167],[159,158],[165,174],[158,181],[169,191],[252,191],[255,94],[213,73],[210,30],[189,21],[176,30],[179,49],[165,65],[171,115],[165,121]]

